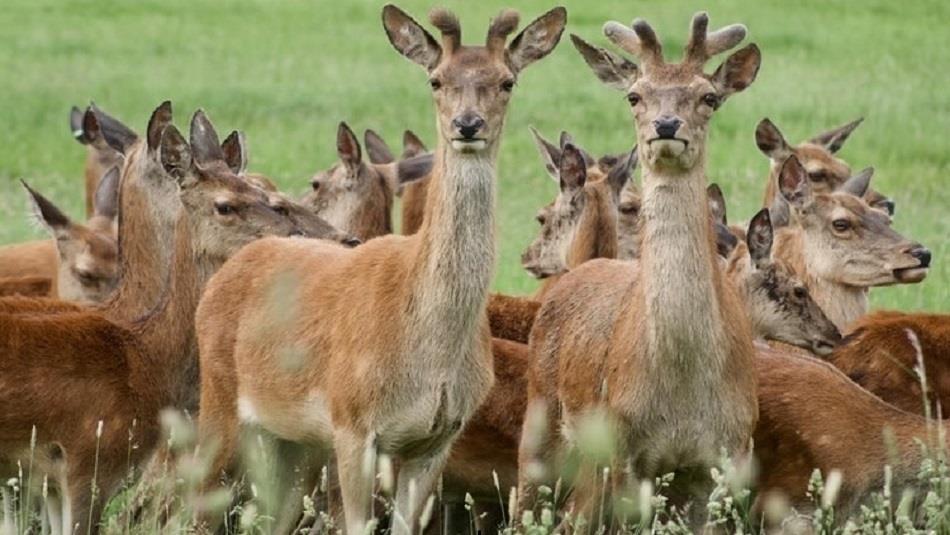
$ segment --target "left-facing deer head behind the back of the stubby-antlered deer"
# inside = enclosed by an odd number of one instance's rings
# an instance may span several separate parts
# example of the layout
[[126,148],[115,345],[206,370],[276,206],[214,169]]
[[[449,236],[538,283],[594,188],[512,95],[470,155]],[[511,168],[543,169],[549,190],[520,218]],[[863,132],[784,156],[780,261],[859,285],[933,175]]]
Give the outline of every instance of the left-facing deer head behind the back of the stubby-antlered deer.
[[392,233],[393,196],[401,185],[432,169],[432,156],[420,154],[399,162],[366,163],[353,130],[337,128],[340,161],[310,180],[301,203],[334,227],[366,241]]

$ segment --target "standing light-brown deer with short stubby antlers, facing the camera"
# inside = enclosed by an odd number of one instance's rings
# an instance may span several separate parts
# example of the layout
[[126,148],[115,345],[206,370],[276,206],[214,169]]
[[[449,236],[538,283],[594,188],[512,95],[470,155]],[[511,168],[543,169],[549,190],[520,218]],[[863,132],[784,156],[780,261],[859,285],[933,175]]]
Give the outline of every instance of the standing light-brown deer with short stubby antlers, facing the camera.
[[[566,17],[555,8],[506,46],[518,16],[503,11],[484,46],[463,46],[447,10],[430,14],[440,44],[401,9],[383,8],[390,43],[425,69],[437,110],[422,228],[354,249],[265,239],[214,277],[197,316],[199,443],[216,446],[212,474],[231,465],[242,424],[323,455],[332,448],[346,531],[361,533],[373,488],[364,458],[389,454],[400,465],[392,530],[417,529],[453,440],[493,381],[485,302],[507,104],[519,73],[554,49]],[[277,281],[304,306],[289,321],[261,324]],[[288,374],[279,348],[291,340],[299,358]]]

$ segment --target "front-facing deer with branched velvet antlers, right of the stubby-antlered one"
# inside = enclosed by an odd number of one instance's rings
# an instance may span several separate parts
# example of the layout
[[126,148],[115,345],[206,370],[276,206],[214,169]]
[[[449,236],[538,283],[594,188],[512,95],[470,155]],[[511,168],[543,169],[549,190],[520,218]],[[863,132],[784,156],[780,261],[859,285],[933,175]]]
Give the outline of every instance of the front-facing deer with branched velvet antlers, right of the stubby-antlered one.
[[[561,279],[531,331],[528,376],[529,402],[547,429],[571,436],[584,414],[606,410],[620,442],[618,466],[629,466],[637,478],[679,471],[679,484],[691,492],[706,490],[708,467],[722,450],[736,455],[746,449],[757,414],[752,329],[719,267],[706,203],[705,142],[714,111],[755,79],[760,54],[749,45],[705,74],[712,56],[745,36],[740,25],[707,34],[707,24],[705,13],[693,18],[680,64],[664,62],[643,20],[633,29],[614,22],[604,27],[612,41],[639,56],[640,66],[572,35],[594,73],[627,93],[636,119],[643,166],[640,262],[634,269],[594,260]],[[676,403],[668,403],[672,399]],[[561,436],[522,438],[519,500],[530,506],[536,482],[528,467],[551,467]],[[612,470],[613,481],[622,473]],[[596,503],[596,489],[575,492],[581,510]]]

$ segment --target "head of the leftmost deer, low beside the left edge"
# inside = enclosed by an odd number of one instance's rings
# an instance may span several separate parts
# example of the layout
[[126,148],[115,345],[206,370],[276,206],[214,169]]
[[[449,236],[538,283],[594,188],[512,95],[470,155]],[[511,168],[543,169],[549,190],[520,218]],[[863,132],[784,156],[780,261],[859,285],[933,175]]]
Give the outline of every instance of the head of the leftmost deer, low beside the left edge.
[[101,303],[119,279],[115,216],[119,170],[110,169],[99,180],[95,215],[85,225],[72,221],[49,199],[26,182],[36,219],[46,227],[59,255],[59,298],[79,303]]

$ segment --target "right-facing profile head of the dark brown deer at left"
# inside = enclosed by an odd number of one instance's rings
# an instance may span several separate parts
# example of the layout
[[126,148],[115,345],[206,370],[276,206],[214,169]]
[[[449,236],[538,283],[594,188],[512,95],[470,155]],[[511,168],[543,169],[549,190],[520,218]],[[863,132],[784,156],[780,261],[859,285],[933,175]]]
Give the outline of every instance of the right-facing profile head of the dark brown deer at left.
[[302,234],[277,213],[267,195],[234,174],[204,112],[191,121],[190,144],[173,125],[161,135],[161,162],[180,188],[195,252],[220,266],[238,249],[267,235]]

